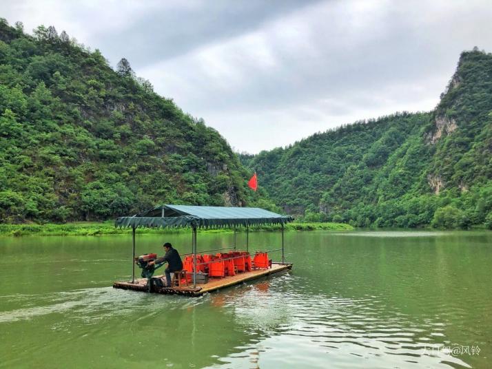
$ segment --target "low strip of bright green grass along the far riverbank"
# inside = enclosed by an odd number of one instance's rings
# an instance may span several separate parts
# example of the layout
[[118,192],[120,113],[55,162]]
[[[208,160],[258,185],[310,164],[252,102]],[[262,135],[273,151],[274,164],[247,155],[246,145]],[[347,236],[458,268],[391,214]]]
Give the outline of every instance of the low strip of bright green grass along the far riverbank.
[[[351,231],[353,226],[334,222],[292,222],[285,224],[286,231]],[[251,226],[249,231],[277,231],[280,225]],[[181,233],[189,231],[186,228],[161,229],[138,228],[136,233]],[[232,233],[232,228],[198,229],[200,233]],[[243,227],[238,232],[244,232]],[[0,224],[0,236],[26,235],[124,235],[132,233],[131,228],[116,228],[112,220],[105,222],[72,222],[65,224]]]

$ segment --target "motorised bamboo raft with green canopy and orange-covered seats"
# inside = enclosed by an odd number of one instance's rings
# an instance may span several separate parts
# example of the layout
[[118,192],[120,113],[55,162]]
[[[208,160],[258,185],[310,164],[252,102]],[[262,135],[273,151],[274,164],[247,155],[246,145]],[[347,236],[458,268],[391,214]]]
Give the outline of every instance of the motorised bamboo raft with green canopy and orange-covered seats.
[[[267,211],[260,208],[247,208],[247,207],[200,207],[194,205],[173,205],[164,204],[158,205],[153,209],[144,211],[143,213],[135,214],[127,217],[117,218],[114,225],[117,227],[132,227],[132,244],[133,244],[133,256],[132,256],[132,282],[114,282],[114,288],[121,288],[125,290],[132,291],[145,291],[151,293],[161,293],[163,295],[186,295],[191,297],[201,296],[205,293],[218,291],[221,288],[235,286],[237,284],[242,284],[244,282],[257,280],[258,278],[267,277],[268,275],[274,275],[277,273],[282,273],[289,271],[292,268],[291,263],[285,262],[284,253],[284,230],[285,224],[294,220],[289,215],[280,215]],[[280,249],[259,251],[255,253],[254,259],[251,259],[249,255],[249,226],[258,224],[278,224],[282,230],[282,247]],[[176,228],[176,227],[189,227],[192,229],[192,253],[184,254],[185,262],[183,264],[183,270],[186,271],[186,280],[189,276],[192,276],[192,286],[189,284],[183,286],[171,286],[163,287],[161,286],[162,275],[152,277],[149,284],[147,284],[147,278],[135,278],[135,264],[139,263],[140,268],[147,268],[146,260],[145,266],[140,264],[140,257],[135,255],[135,233],[136,229],[139,227],[156,227],[156,228]],[[199,251],[199,253],[211,252],[211,251],[225,251],[227,249],[234,249],[234,253],[238,253],[236,249],[236,229],[237,227],[244,227],[246,229],[246,251],[240,251],[240,253],[246,253],[249,266],[245,268],[240,267],[240,264],[236,265],[230,264],[231,259],[241,258],[243,255],[238,255],[234,257],[226,257],[223,260],[229,260],[229,264],[222,264],[221,266],[216,265],[212,271],[207,271],[209,273],[209,280],[207,283],[199,283],[203,280],[197,280],[196,276],[199,273],[203,273],[206,268],[203,268],[205,264],[216,264],[216,262],[204,262],[204,260],[199,260],[197,246],[196,246],[196,233],[198,229],[214,229],[221,227],[231,227],[234,229],[234,246],[225,247],[222,249],[212,249],[206,251]],[[268,258],[268,253],[274,251],[282,251],[281,262],[271,263]],[[231,251],[229,251],[230,253]],[[223,257],[224,253],[218,253],[218,259]],[[156,257],[156,254],[144,254],[141,257]],[[194,255],[192,260],[189,259],[189,255]],[[203,255],[205,256],[205,255]],[[208,255],[212,257],[214,255]],[[258,260],[256,258],[258,257]],[[161,264],[162,265],[162,264]],[[159,267],[159,266],[157,266]],[[237,270],[236,270],[237,267]],[[201,269],[203,268],[203,271]],[[232,268],[235,270],[232,271]],[[253,270],[251,270],[253,268]],[[148,270],[143,270],[142,276],[151,276],[155,269],[152,269],[152,273],[148,274]],[[225,271],[227,270],[227,273]],[[236,274],[237,273],[237,274]],[[227,276],[225,276],[227,275]],[[220,279],[216,279],[219,277]],[[183,277],[183,280],[185,278]]]

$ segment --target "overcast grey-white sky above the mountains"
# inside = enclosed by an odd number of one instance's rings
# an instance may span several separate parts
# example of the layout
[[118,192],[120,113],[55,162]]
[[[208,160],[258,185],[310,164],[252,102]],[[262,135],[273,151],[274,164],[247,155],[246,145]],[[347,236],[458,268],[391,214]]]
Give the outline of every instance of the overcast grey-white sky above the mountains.
[[431,110],[462,50],[492,52],[490,0],[2,0],[0,17],[66,30],[112,66],[124,56],[250,153]]

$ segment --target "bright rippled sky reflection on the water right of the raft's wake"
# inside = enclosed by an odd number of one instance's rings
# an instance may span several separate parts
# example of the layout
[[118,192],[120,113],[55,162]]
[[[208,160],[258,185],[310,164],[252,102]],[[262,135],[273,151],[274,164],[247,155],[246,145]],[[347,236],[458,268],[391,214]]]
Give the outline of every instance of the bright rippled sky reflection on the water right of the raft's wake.
[[444,337],[440,321],[414,322],[398,310],[387,310],[371,295],[362,299],[308,296],[299,282],[293,276],[279,278],[274,284],[282,284],[283,293],[271,293],[260,303],[262,292],[256,288],[236,296],[234,321],[254,327],[256,339],[212,367],[260,368],[260,363],[267,368],[413,368],[412,363],[471,367],[437,349],[442,344],[436,344],[435,337]]

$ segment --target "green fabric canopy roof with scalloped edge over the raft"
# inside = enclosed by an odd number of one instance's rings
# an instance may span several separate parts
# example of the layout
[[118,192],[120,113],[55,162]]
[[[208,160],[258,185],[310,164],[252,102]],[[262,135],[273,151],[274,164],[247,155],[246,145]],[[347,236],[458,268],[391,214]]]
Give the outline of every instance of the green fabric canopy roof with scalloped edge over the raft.
[[191,205],[161,205],[133,215],[117,218],[119,227],[177,227],[192,226],[249,226],[252,224],[285,224],[294,220],[289,215],[280,215],[260,208],[247,207],[197,207]]

